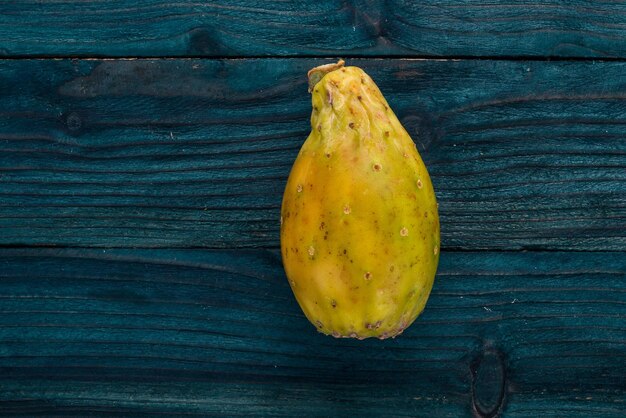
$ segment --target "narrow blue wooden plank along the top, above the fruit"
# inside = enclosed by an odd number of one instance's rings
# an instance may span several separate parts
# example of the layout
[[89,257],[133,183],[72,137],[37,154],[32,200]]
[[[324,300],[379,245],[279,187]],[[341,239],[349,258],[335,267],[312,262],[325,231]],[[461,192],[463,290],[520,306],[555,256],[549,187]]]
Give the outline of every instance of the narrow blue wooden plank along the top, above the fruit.
[[0,4],[2,55],[626,57],[623,1]]

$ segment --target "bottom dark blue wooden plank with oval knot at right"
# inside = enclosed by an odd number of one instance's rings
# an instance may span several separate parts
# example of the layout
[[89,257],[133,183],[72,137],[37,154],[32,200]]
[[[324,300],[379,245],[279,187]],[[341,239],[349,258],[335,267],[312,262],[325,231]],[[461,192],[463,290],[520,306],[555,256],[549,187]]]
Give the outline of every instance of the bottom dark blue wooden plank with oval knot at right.
[[424,314],[385,341],[316,333],[276,251],[4,249],[0,266],[2,415],[624,412],[624,253],[444,252]]

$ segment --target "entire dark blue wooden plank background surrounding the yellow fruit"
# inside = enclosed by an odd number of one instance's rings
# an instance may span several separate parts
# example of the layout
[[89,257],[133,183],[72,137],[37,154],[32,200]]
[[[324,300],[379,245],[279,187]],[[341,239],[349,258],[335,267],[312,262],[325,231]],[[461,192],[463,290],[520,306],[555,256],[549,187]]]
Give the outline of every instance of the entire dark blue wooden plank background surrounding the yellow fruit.
[[[0,4],[0,415],[626,415],[626,3]],[[317,334],[279,207],[306,71],[440,205],[424,314]]]

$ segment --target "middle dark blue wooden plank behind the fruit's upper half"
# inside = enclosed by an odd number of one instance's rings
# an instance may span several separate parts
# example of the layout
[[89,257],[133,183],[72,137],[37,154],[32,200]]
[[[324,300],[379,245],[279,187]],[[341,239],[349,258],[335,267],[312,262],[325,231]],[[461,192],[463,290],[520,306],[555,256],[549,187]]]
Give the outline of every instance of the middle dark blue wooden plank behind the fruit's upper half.
[[[319,60],[0,62],[0,244],[277,248]],[[444,248],[626,248],[626,64],[353,60]]]

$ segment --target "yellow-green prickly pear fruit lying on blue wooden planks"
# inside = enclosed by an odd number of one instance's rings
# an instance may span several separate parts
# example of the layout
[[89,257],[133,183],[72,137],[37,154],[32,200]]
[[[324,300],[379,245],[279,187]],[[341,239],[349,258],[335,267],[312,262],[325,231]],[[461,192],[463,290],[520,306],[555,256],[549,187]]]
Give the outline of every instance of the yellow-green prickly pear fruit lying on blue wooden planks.
[[394,337],[424,309],[437,270],[433,186],[363,70],[340,61],[309,78],[312,131],[281,210],[285,272],[319,332]]

